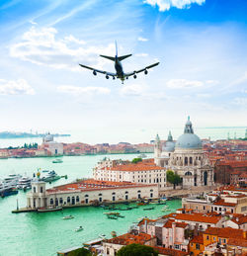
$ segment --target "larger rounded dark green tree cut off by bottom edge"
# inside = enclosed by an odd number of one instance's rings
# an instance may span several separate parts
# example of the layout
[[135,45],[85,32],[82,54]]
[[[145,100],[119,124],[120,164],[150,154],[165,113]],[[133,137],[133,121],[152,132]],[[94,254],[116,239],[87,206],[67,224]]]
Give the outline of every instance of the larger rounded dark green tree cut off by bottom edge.
[[150,246],[132,243],[122,247],[117,256],[158,256],[158,252]]

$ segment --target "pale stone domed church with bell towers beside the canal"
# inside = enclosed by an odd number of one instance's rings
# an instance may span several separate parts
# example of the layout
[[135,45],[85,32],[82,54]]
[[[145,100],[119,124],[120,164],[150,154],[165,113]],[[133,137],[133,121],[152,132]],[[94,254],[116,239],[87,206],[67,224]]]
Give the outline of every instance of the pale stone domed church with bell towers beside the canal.
[[158,166],[173,170],[182,178],[183,188],[213,185],[213,168],[209,164],[200,137],[194,133],[190,117],[185,125],[184,134],[176,143],[171,131],[162,144],[156,136],[154,161]]

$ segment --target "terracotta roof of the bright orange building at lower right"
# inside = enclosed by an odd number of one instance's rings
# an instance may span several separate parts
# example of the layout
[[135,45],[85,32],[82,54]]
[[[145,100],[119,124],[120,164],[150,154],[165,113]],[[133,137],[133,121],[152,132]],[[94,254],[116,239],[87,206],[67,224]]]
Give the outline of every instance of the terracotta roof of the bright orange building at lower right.
[[240,238],[244,237],[244,231],[242,229],[236,229],[231,227],[207,227],[206,234],[217,235],[223,238]]

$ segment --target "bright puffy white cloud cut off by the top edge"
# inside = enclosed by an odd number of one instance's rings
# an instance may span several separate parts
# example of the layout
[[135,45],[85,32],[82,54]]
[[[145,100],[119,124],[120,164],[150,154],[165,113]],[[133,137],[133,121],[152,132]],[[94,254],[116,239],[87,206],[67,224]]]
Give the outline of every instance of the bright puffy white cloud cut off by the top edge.
[[158,6],[160,12],[168,11],[171,7],[178,9],[190,8],[192,4],[202,5],[206,0],[144,0],[144,3],[151,6]]

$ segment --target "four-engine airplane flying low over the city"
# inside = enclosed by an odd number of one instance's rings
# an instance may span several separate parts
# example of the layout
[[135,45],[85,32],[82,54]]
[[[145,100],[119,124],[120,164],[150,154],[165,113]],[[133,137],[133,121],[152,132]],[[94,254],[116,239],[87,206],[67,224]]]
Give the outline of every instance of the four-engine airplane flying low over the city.
[[110,76],[112,76],[114,80],[115,80],[115,78],[119,78],[119,79],[122,80],[122,83],[124,84],[124,80],[128,79],[129,76],[133,76],[133,78],[136,79],[137,78],[137,76],[136,76],[137,73],[144,72],[144,74],[147,75],[147,73],[148,73],[147,69],[152,68],[154,66],[157,66],[159,64],[159,62],[156,62],[154,64],[151,64],[149,66],[141,68],[139,70],[134,70],[134,71],[129,72],[129,73],[124,73],[124,69],[123,69],[121,61],[124,60],[127,57],[130,57],[131,55],[132,54],[127,54],[127,55],[124,55],[124,56],[118,56],[118,46],[117,46],[117,42],[116,42],[116,56],[115,57],[100,55],[101,57],[105,57],[105,58],[110,59],[110,60],[115,62],[116,73],[111,73],[111,72],[108,72],[108,71],[99,70],[99,69],[96,69],[96,68],[93,68],[93,67],[90,67],[90,66],[86,66],[86,65],[83,65],[83,64],[79,64],[79,65],[81,67],[93,70],[94,75],[97,75],[97,73],[102,73],[102,74],[106,75],[107,79],[109,79]]

